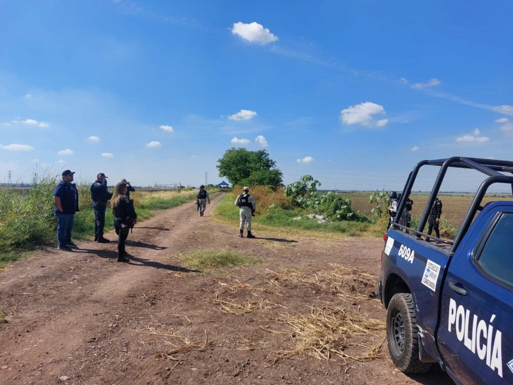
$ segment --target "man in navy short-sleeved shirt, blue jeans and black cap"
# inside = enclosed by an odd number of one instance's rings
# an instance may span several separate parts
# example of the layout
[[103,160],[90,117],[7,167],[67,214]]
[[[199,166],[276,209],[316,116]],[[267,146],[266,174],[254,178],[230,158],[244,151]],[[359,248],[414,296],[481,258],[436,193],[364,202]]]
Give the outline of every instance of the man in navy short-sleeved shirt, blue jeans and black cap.
[[57,238],[59,240],[57,248],[67,252],[71,251],[71,247],[76,247],[71,241],[73,219],[75,212],[78,211],[78,190],[72,183],[73,174],[75,172],[71,170],[64,170],[63,180],[57,184],[53,193],[53,202],[55,203],[53,212],[57,217]]

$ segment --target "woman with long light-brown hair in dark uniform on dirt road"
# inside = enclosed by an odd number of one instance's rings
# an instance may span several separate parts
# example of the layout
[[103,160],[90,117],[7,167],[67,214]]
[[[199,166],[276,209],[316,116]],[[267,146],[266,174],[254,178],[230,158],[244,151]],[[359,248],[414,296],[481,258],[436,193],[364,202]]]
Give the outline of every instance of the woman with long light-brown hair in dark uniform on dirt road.
[[137,214],[132,203],[126,196],[127,185],[120,182],[114,187],[114,195],[110,200],[112,213],[114,214],[114,229],[117,234],[117,262],[128,262],[128,254],[125,250],[125,241],[130,230],[130,222],[137,223]]

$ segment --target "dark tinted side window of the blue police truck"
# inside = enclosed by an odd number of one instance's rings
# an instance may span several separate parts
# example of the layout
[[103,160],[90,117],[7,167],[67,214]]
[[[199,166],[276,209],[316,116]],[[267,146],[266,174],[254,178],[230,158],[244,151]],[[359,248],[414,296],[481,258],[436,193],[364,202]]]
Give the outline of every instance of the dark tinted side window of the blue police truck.
[[490,276],[513,286],[513,214],[501,216],[481,249],[477,263]]

